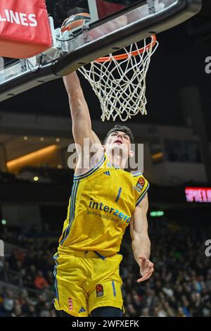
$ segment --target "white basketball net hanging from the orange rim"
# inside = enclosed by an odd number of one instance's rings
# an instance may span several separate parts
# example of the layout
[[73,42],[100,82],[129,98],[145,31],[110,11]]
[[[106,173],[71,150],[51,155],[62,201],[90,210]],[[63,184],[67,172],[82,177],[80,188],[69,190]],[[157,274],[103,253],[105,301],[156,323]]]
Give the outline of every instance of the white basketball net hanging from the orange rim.
[[[98,96],[103,121],[115,120],[117,116],[125,121],[139,112],[147,114],[146,73],[157,47],[158,42],[153,44],[153,37],[149,46],[144,39],[141,53],[139,46],[132,44],[129,49],[124,49],[127,54],[124,60],[117,60],[110,54],[105,62],[94,61],[79,68]],[[134,51],[138,51],[136,56],[132,55]]]

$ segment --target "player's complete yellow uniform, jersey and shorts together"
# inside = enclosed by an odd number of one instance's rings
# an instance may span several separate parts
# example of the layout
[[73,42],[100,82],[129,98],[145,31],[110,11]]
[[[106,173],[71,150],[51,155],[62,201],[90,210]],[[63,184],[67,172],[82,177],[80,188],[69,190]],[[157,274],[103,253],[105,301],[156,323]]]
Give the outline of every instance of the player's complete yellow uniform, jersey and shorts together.
[[59,239],[55,307],[88,316],[99,306],[122,308],[118,254],[134,209],[148,191],[141,173],[127,173],[106,155],[74,177],[68,216]]

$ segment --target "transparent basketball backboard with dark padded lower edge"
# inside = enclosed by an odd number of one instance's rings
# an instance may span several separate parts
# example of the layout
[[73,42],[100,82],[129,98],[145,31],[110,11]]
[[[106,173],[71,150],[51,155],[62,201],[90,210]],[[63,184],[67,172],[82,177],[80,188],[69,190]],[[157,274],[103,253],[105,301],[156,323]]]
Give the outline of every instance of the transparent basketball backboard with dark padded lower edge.
[[50,18],[51,49],[27,60],[6,62],[0,58],[0,101],[68,75],[96,58],[179,25],[196,15],[201,3],[202,0],[66,1],[68,7],[62,15],[86,11],[91,15],[91,23],[75,35],[71,32],[62,34],[60,28],[54,28],[53,18]]

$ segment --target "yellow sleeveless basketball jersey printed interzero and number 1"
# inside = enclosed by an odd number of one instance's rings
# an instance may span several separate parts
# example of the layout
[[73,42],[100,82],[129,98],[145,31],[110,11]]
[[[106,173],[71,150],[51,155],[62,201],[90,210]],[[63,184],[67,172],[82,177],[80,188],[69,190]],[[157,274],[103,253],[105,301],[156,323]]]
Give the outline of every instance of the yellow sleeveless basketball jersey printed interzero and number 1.
[[93,169],[73,179],[58,251],[96,251],[102,256],[117,254],[134,209],[148,187],[141,173],[132,174],[117,168],[104,155]]

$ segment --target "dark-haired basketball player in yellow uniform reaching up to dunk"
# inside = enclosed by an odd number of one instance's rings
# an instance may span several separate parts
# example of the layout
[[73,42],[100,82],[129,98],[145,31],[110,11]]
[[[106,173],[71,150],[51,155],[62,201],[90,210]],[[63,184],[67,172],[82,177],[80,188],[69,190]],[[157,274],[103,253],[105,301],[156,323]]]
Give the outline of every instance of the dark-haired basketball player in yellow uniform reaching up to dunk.
[[[151,242],[146,218],[149,185],[141,173],[132,175],[124,170],[133,154],[129,128],[116,125],[102,146],[91,130],[89,109],[77,74],[64,77],[64,83],[79,159],[68,216],[54,256],[55,307],[67,317],[121,317],[122,256],[118,252],[127,225],[141,273],[137,282],[148,280],[154,271],[149,261]],[[95,153],[87,155],[87,139],[90,147],[98,146]],[[91,161],[81,167],[87,160]]]

